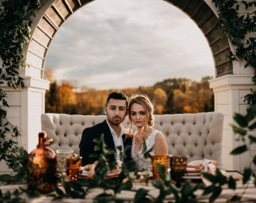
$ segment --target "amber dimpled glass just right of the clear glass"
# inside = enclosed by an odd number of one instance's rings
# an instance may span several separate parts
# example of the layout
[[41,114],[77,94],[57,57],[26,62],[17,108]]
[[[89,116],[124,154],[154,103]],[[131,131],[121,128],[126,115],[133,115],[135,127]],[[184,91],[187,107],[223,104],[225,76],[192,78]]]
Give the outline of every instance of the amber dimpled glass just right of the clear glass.
[[81,174],[82,157],[73,156],[67,158],[67,176],[72,180],[77,180],[78,175]]

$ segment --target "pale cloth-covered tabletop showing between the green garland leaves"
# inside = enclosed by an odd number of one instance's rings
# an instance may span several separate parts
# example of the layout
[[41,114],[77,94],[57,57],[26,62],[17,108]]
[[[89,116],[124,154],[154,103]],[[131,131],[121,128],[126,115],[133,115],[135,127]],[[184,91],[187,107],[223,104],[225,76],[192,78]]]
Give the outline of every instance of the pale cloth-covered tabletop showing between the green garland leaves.
[[[242,175],[236,171],[228,171],[229,174],[234,175],[235,177],[242,177]],[[26,185],[6,185],[0,187],[2,192],[14,192],[16,188],[26,188]],[[256,188],[254,186],[253,180],[249,180],[249,184],[247,185],[247,189],[245,191],[245,186],[242,184],[241,180],[236,181],[236,190],[229,189],[228,187],[223,188],[223,191],[221,192],[219,198],[215,202],[226,202],[228,198],[233,197],[235,194],[236,195],[241,195],[243,192],[245,194],[243,195],[243,198],[241,202],[252,202],[256,201]],[[134,189],[139,189],[139,188],[144,188],[149,191],[149,194],[152,195],[153,197],[158,197],[158,189],[154,188],[151,184],[146,185],[143,182],[135,182],[133,183],[133,188]],[[87,202],[93,202],[93,198],[98,196],[98,194],[101,194],[104,190],[102,188],[93,188],[89,191],[85,199],[62,199],[59,201],[54,201],[56,203],[59,202],[64,202],[64,203],[75,203],[75,202],[80,202],[80,203],[87,203]],[[106,193],[114,194],[113,191],[111,190],[106,190]],[[132,191],[122,191],[117,195],[117,198],[130,201],[132,202],[134,197],[135,197],[136,192]],[[202,197],[202,191],[198,190],[195,192],[197,195],[197,199],[200,201],[209,201],[210,196],[204,196]],[[24,198],[26,201],[30,203],[50,203],[52,202],[52,197],[37,197],[37,198],[28,198],[26,194],[22,194],[21,196]],[[167,196],[166,201],[174,201],[173,195]]]

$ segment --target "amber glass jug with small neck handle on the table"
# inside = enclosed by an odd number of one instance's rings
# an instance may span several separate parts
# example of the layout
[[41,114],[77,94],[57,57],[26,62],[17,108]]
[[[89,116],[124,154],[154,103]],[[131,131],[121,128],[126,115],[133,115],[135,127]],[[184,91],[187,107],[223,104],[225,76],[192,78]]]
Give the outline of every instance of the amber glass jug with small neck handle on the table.
[[[46,137],[46,132],[39,132],[38,137],[37,149],[28,154],[28,189],[48,193],[57,184],[56,154],[47,147],[53,140]],[[46,144],[46,140],[49,143]]]

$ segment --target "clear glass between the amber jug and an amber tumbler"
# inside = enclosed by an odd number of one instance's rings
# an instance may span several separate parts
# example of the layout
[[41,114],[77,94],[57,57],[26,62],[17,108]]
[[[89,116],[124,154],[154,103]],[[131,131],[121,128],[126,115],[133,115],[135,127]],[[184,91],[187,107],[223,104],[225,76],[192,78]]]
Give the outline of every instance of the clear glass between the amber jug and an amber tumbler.
[[57,167],[58,171],[66,172],[67,171],[67,158],[72,157],[74,153],[73,149],[57,149]]

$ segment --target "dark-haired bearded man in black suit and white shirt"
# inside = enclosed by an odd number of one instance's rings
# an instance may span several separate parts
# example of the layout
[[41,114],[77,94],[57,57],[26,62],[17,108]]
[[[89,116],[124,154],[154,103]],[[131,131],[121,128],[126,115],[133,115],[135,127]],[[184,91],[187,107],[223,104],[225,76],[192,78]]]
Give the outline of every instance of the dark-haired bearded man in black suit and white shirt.
[[[89,154],[94,152],[93,139],[99,139],[104,134],[104,141],[107,149],[115,149],[119,160],[119,149],[116,147],[132,145],[132,139],[125,139],[125,128],[122,122],[127,115],[128,98],[124,93],[113,92],[107,100],[105,106],[106,120],[93,127],[85,128],[80,141],[80,156],[82,166],[95,162],[96,158],[90,158]],[[128,158],[131,157],[131,148],[127,151]],[[110,162],[115,161],[115,157],[110,156]]]

